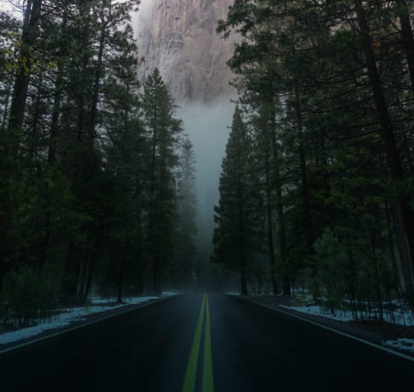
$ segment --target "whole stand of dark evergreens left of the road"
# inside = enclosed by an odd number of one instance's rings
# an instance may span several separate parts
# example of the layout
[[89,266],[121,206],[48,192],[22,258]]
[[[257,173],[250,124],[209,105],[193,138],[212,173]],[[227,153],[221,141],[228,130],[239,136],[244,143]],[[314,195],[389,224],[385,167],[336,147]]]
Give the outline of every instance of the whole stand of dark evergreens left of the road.
[[193,146],[159,71],[138,83],[138,3],[0,13],[2,328],[193,286]]

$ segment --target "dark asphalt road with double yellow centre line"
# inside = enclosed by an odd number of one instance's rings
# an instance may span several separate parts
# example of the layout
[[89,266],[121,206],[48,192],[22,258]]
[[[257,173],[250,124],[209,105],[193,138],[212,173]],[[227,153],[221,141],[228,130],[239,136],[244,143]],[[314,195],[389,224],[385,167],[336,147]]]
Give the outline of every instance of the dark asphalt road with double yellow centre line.
[[0,390],[402,391],[414,362],[234,296],[167,298],[0,354]]

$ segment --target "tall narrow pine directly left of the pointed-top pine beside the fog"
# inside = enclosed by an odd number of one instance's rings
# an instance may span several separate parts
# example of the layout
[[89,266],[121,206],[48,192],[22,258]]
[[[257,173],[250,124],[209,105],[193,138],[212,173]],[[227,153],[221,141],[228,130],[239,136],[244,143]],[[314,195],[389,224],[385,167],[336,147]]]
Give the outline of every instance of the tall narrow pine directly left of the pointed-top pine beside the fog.
[[145,176],[142,168],[146,164],[148,143],[140,118],[142,102],[138,96],[137,48],[132,27],[128,24],[113,39],[119,41],[119,52],[111,60],[114,72],[105,87],[107,105],[104,119],[108,133],[108,144],[104,147],[108,181],[105,203],[113,213],[104,213],[101,217],[106,234],[99,247],[107,249],[108,256],[109,276],[103,279],[107,285],[117,287],[117,301],[121,303],[125,283],[139,288],[139,279],[136,282],[132,277],[137,277],[137,270],[139,276],[142,259],[145,259],[142,249]]

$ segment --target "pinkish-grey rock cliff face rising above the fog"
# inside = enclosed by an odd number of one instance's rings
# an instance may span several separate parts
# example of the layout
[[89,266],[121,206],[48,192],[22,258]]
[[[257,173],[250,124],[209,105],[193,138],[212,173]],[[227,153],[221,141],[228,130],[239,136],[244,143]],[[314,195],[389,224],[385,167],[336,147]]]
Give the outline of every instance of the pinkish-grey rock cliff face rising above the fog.
[[140,78],[157,67],[179,103],[234,95],[226,61],[234,39],[216,33],[233,0],[144,0],[138,16]]

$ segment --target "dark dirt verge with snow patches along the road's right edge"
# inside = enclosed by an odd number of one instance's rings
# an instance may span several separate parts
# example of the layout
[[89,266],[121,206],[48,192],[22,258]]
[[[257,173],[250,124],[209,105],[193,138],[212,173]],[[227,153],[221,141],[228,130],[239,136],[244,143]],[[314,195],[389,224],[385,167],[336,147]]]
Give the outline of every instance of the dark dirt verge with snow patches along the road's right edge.
[[304,296],[240,296],[246,300],[272,307],[282,312],[308,319],[341,331],[348,335],[358,337],[368,342],[393,349],[414,357],[414,326],[401,325],[387,321],[364,319],[354,321],[352,317],[339,312],[336,316],[316,305],[304,300]]

